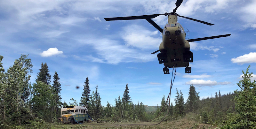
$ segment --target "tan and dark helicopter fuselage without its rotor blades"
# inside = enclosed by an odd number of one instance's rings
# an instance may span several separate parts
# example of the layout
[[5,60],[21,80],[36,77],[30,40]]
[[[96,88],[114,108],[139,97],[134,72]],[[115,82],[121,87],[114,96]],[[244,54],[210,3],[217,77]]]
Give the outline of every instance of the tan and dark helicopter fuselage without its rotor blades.
[[177,15],[168,16],[168,23],[165,25],[162,35],[163,42],[159,46],[161,52],[158,56],[159,63],[163,63],[165,67],[169,68],[173,66],[187,67],[189,62],[184,61],[184,54],[189,52],[190,45],[185,38],[183,27],[177,22]]

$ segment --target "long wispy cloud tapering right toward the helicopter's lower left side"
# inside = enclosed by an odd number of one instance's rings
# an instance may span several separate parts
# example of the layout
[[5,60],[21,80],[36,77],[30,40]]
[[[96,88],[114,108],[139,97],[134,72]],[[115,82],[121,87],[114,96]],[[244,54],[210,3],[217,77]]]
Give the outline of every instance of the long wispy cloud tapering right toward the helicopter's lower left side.
[[148,62],[156,58],[155,55],[131,49],[126,45],[119,44],[119,42],[115,40],[99,39],[91,36],[80,39],[78,42],[92,45],[92,48],[96,51],[98,56],[83,57],[83,59],[90,58],[88,61],[92,62],[118,64],[120,62]]

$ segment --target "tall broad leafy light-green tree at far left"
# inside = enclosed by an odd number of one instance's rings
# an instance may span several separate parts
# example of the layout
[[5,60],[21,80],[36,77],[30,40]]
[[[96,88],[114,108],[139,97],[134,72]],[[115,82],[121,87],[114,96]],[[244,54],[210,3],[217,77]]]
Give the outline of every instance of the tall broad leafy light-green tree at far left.
[[22,115],[29,116],[28,119],[31,118],[26,106],[30,95],[30,83],[28,81],[31,76],[28,73],[32,72],[33,65],[31,59],[27,57],[28,55],[21,55],[6,72],[4,115],[8,116],[6,121],[13,125],[22,125],[27,120],[27,117],[23,118]]

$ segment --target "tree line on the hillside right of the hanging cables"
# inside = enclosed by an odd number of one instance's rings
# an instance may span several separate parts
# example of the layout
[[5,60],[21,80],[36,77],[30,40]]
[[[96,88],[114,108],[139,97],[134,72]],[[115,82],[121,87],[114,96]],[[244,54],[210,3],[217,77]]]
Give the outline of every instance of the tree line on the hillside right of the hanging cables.
[[[171,103],[167,120],[186,117],[201,123],[218,125],[222,129],[256,129],[256,81],[251,80],[253,72],[249,67],[243,72],[243,79],[237,85],[240,90],[221,95],[215,92],[215,97],[198,96],[195,87],[190,85],[188,99],[184,102],[182,92],[176,88],[175,105]],[[161,106],[156,110],[155,116],[162,109],[162,118],[169,108],[165,104],[165,96]],[[161,118],[161,116],[160,116]]]

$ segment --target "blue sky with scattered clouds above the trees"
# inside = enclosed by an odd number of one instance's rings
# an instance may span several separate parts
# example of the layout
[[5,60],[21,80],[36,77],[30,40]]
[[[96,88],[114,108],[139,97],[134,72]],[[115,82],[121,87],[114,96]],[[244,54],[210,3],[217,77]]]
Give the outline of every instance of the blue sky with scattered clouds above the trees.
[[[0,55],[5,70],[21,54],[29,54],[35,82],[41,63],[50,74],[59,74],[62,102],[72,97],[80,102],[88,76],[91,92],[98,85],[101,102],[115,105],[123,96],[126,83],[134,103],[160,104],[168,95],[171,74],[157,61],[162,42],[160,32],[145,19],[105,21],[104,18],[172,12],[175,0],[8,0],[0,1]],[[177,68],[175,88],[188,97],[193,83],[199,96],[233,92],[239,87],[242,70],[256,70],[255,0],[184,0],[177,13],[215,24],[204,25],[188,19],[178,22],[190,31],[189,38],[222,34],[230,37],[190,42],[194,53],[191,74]],[[153,19],[160,27],[166,16]],[[171,70],[171,69],[170,69]],[[255,78],[252,78],[252,80]],[[52,77],[53,81],[53,77]],[[79,89],[76,89],[79,86]],[[185,99],[185,100],[186,100]]]

